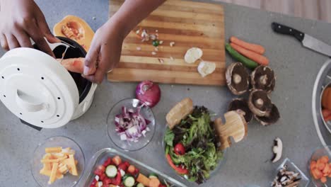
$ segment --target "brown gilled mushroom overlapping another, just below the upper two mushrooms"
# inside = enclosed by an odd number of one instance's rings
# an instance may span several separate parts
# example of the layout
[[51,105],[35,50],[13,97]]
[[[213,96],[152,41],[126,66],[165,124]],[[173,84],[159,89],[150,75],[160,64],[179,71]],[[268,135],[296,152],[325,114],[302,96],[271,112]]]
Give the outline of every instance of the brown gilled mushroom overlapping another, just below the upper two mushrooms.
[[248,98],[250,111],[257,116],[265,116],[272,110],[272,102],[266,91],[253,90]]

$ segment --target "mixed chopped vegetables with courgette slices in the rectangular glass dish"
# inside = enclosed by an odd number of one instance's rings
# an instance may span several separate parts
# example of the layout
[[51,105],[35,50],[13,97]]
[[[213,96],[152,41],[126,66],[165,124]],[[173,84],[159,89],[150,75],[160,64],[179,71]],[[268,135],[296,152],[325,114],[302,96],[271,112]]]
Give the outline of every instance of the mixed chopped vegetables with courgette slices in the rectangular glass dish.
[[168,183],[161,183],[156,174],[144,176],[136,166],[129,162],[122,162],[120,156],[108,157],[102,165],[94,171],[95,178],[90,187],[168,187]]

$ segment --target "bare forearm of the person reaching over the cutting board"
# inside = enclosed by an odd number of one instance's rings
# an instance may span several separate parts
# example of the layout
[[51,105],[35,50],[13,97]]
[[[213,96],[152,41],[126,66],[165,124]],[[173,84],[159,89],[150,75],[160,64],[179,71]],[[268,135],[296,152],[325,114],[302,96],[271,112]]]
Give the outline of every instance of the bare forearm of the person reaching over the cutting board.
[[127,35],[165,0],[126,0],[108,22],[115,23]]

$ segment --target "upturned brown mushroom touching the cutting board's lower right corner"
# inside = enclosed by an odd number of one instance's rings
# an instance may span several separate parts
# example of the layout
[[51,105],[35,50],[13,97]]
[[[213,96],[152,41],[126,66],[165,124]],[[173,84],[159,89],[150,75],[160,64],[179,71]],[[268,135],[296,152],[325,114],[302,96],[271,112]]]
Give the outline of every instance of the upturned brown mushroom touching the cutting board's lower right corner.
[[233,63],[226,68],[226,84],[235,95],[244,94],[250,86],[250,74],[240,62]]

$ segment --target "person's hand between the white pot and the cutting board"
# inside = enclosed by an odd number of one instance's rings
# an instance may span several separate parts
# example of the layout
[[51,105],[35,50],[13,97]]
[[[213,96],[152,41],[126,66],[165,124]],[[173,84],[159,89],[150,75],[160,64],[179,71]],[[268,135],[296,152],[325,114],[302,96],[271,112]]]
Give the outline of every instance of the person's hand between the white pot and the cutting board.
[[103,81],[105,74],[114,69],[120,61],[124,35],[124,30],[112,21],[108,21],[95,32],[85,58],[83,77],[98,84]]

